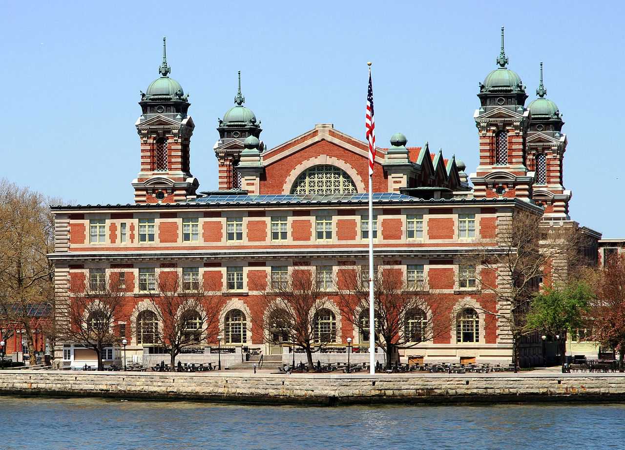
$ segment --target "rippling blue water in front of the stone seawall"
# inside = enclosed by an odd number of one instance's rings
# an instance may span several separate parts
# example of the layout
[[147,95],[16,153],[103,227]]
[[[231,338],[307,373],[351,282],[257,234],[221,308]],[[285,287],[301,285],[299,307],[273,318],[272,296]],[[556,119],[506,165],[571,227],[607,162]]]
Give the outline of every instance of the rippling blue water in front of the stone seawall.
[[0,397],[8,449],[623,449],[625,404],[234,406]]

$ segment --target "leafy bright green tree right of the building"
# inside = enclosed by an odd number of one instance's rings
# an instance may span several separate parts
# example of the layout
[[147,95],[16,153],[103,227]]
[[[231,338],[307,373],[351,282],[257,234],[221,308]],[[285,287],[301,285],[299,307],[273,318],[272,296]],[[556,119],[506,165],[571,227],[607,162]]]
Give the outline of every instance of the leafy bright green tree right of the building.
[[[566,332],[584,325],[584,317],[591,306],[594,293],[583,281],[568,284],[562,289],[551,288],[534,296],[526,316],[527,332],[539,331],[559,336],[562,360],[566,352]],[[564,361],[562,361],[564,362]]]

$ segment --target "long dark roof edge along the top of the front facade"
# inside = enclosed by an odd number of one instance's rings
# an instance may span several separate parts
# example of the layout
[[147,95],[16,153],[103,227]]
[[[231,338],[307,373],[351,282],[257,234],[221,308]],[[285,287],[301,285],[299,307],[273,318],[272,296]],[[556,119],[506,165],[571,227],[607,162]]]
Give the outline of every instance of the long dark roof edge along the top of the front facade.
[[[522,201],[519,199],[507,199],[507,198],[482,198],[482,199],[466,199],[466,198],[457,198],[452,197],[451,199],[419,199],[416,197],[410,197],[409,199],[374,199],[373,201],[376,205],[393,205],[393,206],[451,206],[451,205],[474,205],[474,206],[511,206],[511,207],[521,207],[522,209],[527,209],[529,211],[542,212],[543,209],[540,206],[537,206],[533,203]],[[106,205],[50,205],[51,211],[106,211],[106,210],[136,210],[136,211],[171,211],[171,210],[184,210],[184,209],[214,209],[216,207],[259,207],[261,209],[266,209],[267,206],[326,206],[326,205],[334,205],[334,206],[343,206],[343,207],[354,207],[354,206],[366,206],[367,200],[359,199],[359,200],[345,200],[345,199],[332,199],[329,197],[328,199],[301,199],[297,201],[267,201],[267,202],[246,202],[246,201],[229,201],[229,202],[212,202],[211,204],[206,204],[203,202],[178,202],[178,203],[136,203],[136,204],[106,204]]]

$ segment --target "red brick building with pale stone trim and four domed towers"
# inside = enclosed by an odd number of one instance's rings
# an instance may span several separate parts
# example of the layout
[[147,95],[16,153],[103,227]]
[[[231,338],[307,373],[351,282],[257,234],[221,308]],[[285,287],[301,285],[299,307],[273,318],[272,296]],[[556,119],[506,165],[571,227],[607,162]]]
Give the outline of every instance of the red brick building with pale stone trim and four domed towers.
[[[392,136],[389,148],[377,150],[376,266],[421,280],[432,301],[462,305],[448,332],[401,349],[402,357],[510,362],[509,332],[495,316],[480,312],[506,305],[477,289],[480,268],[462,266],[462,255],[477,241],[494,246],[499,228],[516,210],[577,226],[569,217],[571,192],[563,185],[566,135],[557,107],[545,98],[542,66],[539,98],[526,108],[526,88],[506,67],[503,38],[497,64],[477,94],[479,166],[472,186],[464,163],[432,152],[427,143],[407,147],[401,133]],[[74,281],[123,274],[128,295],[118,329],[129,352],[143,352],[142,331],[133,324],[157,277],[177,272],[222,292],[223,345],[281,352],[266,344],[267,331],[252,318],[262,314],[257,305],[268,279],[307,267],[327,280],[334,344],[344,345],[347,337],[364,344],[358,327],[341,317],[336,280],[341,271],[367,265],[367,144],[331,124],[317,124],[266,148],[261,123],[243,106],[239,76],[235,105],[217,127],[218,190],[198,192],[187,96],[169,78],[164,56],[159,73],[139,103],[135,203],[53,207],[56,249],[50,257],[58,304],[72,296]],[[526,345],[524,364],[542,361],[540,343],[534,344]],[[59,342],[56,356],[72,364],[79,359],[75,347]]]

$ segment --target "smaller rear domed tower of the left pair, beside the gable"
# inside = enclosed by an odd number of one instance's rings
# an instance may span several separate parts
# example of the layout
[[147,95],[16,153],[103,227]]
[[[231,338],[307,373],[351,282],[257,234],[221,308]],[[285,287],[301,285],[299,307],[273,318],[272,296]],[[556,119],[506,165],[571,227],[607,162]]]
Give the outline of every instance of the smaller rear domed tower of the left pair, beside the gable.
[[[234,96],[234,106],[223,119],[219,119],[219,141],[214,145],[215,156],[219,161],[219,190],[242,189],[241,173],[237,166],[241,162],[244,142],[250,136],[259,140],[261,123],[251,109],[243,106],[245,97],[241,94],[241,71],[239,71],[239,89]],[[259,141],[258,151],[262,153],[264,144]]]

